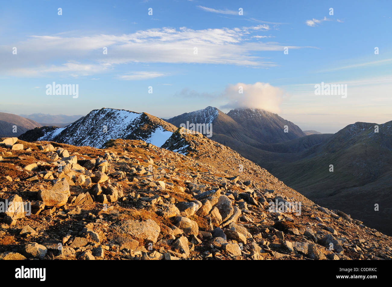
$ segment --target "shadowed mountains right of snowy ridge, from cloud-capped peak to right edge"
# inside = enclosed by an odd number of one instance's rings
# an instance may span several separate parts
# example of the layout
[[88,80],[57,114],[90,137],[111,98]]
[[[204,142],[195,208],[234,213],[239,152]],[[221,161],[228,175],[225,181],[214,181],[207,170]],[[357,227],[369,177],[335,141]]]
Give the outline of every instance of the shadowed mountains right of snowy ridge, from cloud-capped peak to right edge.
[[[256,162],[319,204],[344,210],[368,226],[392,234],[392,122],[379,125],[378,133],[374,132],[375,123],[355,123],[336,134],[321,134],[303,132],[263,110],[238,109],[224,114],[212,107],[167,121],[176,126],[185,121],[212,123],[214,141]],[[285,125],[288,133],[284,133]],[[374,210],[375,204],[381,206],[379,211]]]

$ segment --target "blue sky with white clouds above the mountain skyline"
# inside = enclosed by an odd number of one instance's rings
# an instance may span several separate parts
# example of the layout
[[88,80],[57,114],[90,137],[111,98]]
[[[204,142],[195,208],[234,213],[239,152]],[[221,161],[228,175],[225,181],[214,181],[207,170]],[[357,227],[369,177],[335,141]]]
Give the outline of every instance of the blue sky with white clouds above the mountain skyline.
[[[111,107],[167,118],[210,105],[224,112],[255,107],[320,132],[392,120],[390,1],[1,6],[2,112],[73,115]],[[52,82],[78,84],[78,98],[48,96]],[[347,97],[316,96],[321,82],[346,84]]]

